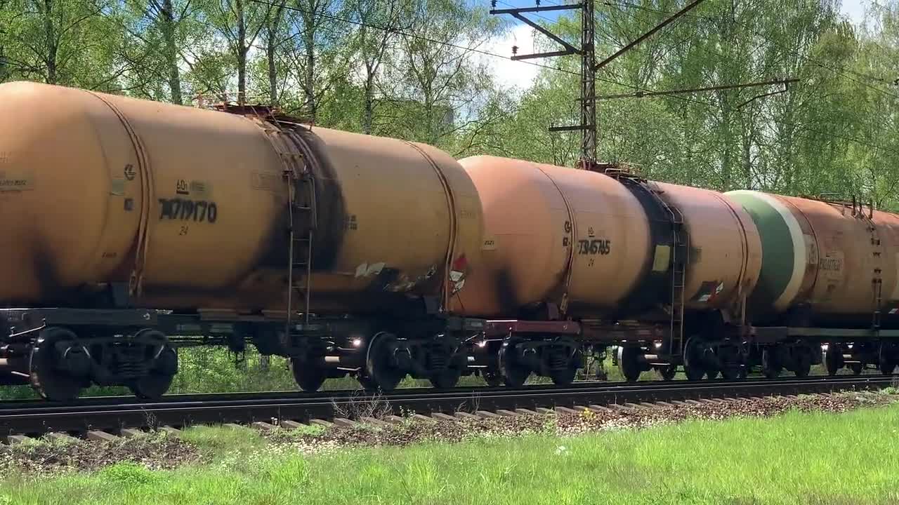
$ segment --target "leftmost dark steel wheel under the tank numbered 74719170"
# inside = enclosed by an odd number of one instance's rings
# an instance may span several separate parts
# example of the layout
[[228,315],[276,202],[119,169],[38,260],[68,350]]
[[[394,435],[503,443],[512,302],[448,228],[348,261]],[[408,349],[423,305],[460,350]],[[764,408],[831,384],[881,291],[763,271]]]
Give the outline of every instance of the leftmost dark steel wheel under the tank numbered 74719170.
[[[31,387],[42,397],[54,402],[75,400],[81,394],[82,382],[59,369],[60,356],[56,350],[62,342],[78,340],[74,332],[50,327],[40,332],[31,349]],[[83,348],[82,348],[83,349]]]

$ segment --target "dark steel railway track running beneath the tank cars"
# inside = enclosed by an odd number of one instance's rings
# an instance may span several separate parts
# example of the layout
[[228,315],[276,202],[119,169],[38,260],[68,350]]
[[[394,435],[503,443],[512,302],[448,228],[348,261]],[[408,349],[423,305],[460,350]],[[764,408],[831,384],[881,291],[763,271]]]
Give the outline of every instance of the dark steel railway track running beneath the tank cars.
[[370,411],[373,406],[394,413],[496,412],[870,390],[893,385],[894,381],[895,377],[888,376],[844,376],[738,382],[585,382],[565,388],[530,385],[519,389],[456,388],[442,392],[414,388],[374,396],[351,390],[319,394],[174,394],[152,403],[139,402],[133,397],[98,397],[69,404],[7,401],[0,403],[0,438],[54,432],[115,433],[123,429],[181,428],[197,424],[324,421],[365,415],[358,412]]

